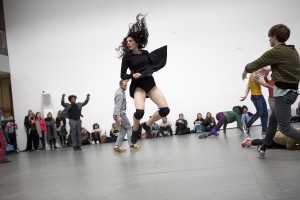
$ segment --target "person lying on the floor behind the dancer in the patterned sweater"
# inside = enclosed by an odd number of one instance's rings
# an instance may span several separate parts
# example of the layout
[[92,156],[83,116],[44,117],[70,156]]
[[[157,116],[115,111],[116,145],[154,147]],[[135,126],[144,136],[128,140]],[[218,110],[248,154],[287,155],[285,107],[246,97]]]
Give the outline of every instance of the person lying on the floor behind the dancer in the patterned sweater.
[[[242,143],[242,147],[250,147],[251,145],[260,146],[262,144],[263,144],[263,139],[251,140],[251,138],[247,138]],[[300,145],[297,144],[294,139],[285,136],[280,131],[277,131],[269,148],[270,149],[286,148],[287,150],[300,150]]]

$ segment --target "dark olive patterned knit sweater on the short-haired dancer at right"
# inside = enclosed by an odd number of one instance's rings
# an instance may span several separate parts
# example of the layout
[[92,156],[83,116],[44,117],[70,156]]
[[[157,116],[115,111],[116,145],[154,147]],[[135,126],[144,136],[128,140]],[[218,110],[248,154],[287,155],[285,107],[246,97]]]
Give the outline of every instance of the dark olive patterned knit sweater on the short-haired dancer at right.
[[265,52],[257,60],[247,64],[245,71],[252,73],[269,65],[271,65],[272,79],[276,86],[281,83],[299,84],[300,60],[299,54],[293,45],[277,45]]

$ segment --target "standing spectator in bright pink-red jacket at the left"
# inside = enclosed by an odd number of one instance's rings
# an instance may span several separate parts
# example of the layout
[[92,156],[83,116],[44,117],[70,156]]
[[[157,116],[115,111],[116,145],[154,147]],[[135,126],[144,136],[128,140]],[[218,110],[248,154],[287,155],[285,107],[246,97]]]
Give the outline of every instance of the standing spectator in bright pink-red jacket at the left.
[[39,140],[42,142],[42,149],[46,149],[46,144],[45,144],[45,132],[47,130],[45,120],[41,117],[41,113],[37,112],[35,114],[35,120],[34,120],[34,125],[36,129],[36,136],[35,136],[35,149],[39,149]]

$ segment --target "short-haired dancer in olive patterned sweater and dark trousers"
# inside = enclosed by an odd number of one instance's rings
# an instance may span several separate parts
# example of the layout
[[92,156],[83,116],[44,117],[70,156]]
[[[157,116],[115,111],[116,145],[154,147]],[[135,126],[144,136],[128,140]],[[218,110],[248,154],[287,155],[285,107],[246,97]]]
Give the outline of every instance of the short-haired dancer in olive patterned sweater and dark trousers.
[[[286,45],[285,42],[290,37],[290,29],[283,25],[274,25],[268,33],[272,49],[265,52],[257,60],[247,64],[242,74],[243,80],[247,73],[252,73],[265,66],[271,66],[272,78],[274,80],[274,100],[275,111],[269,118],[269,125],[263,145],[259,147],[259,158],[265,157],[267,147],[271,144],[273,137],[279,130],[300,143],[300,131],[291,127],[291,105],[298,97],[298,85],[300,80],[300,60],[299,54],[293,45]],[[262,74],[267,71],[263,69]]]

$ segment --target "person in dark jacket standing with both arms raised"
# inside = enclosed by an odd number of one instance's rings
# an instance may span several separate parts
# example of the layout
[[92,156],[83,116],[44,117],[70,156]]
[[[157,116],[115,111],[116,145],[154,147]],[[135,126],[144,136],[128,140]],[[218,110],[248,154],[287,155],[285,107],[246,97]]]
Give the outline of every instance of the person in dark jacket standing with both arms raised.
[[65,103],[65,94],[62,95],[61,105],[65,108],[61,112],[61,116],[69,118],[70,132],[72,134],[72,143],[74,151],[82,150],[81,148],[81,110],[90,99],[90,95],[86,95],[86,100],[83,103],[76,103],[77,97],[75,95],[70,95],[68,100],[70,103]]

